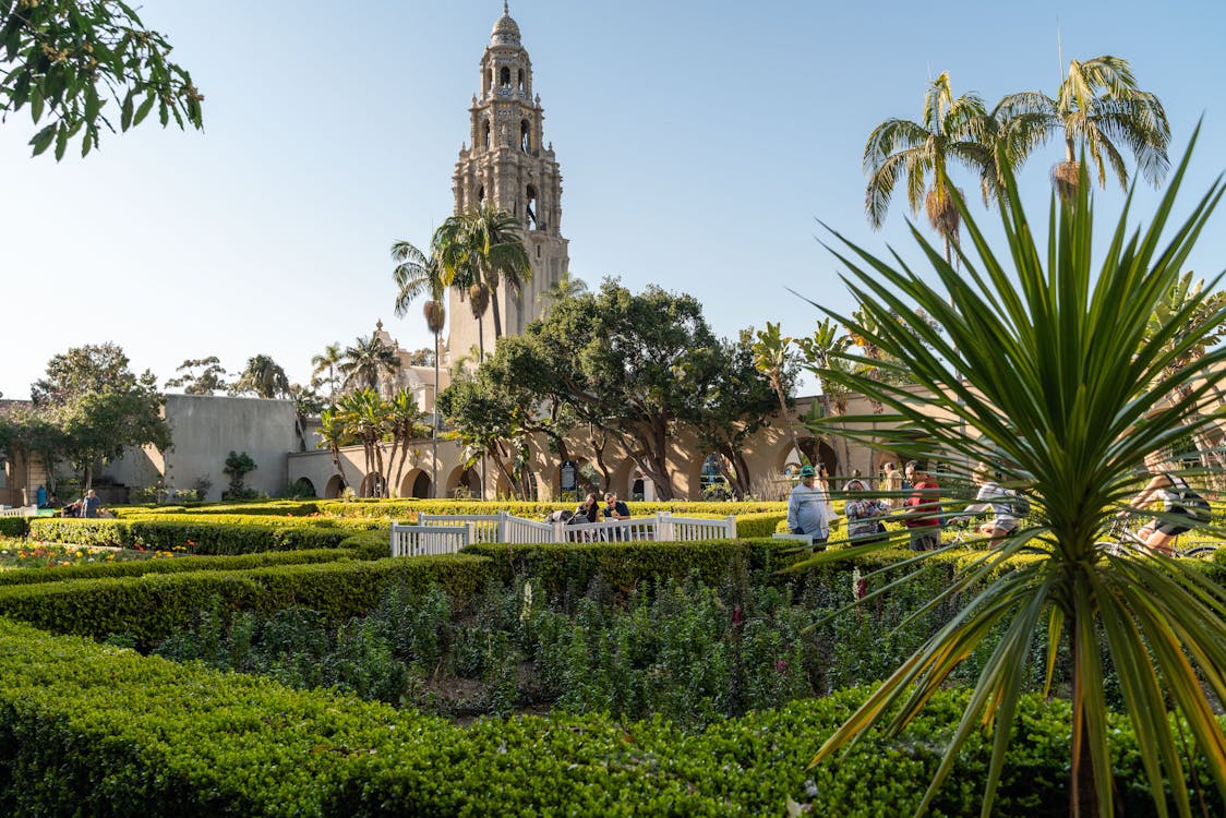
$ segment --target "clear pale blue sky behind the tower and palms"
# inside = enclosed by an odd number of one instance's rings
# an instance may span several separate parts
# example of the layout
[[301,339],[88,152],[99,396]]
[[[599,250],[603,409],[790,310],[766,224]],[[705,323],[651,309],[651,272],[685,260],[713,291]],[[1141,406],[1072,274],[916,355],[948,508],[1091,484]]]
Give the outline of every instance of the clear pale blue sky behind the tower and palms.
[[[206,94],[205,130],[151,118],[56,164],[28,157],[25,112],[0,124],[4,396],[28,396],[53,354],[103,341],[161,381],[185,358],[235,372],[261,352],[304,381],[313,354],[378,319],[428,346],[416,309],[392,315],[387,249],[424,245],[451,212],[500,13],[497,0],[148,0],[145,22]],[[945,70],[989,104],[1053,92],[1057,31],[1065,61],[1132,61],[1166,104],[1173,155],[1204,115],[1186,205],[1226,168],[1221,2],[516,0],[511,16],[562,164],[571,271],[694,293],[726,336],[767,320],[808,334],[815,312],[787,288],[848,307],[815,220],[915,258],[904,200],[880,232],[864,220],[868,132],[917,119]],[[1024,169],[1032,207],[1059,158],[1051,143]],[[1119,202],[1100,194],[1101,217]],[[1224,266],[1222,218],[1192,261],[1201,275]]]

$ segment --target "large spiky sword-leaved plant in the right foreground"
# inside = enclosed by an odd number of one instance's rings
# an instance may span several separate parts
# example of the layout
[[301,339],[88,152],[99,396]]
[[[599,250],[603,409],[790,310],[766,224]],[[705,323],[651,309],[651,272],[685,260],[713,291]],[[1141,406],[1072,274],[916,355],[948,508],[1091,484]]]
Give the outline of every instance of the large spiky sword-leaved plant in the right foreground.
[[[1005,168],[1007,251],[993,253],[962,206],[980,264],[969,256],[962,273],[934,264],[940,288],[843,242],[840,258],[851,269],[862,309],[877,320],[877,343],[908,368],[912,380],[906,388],[855,370],[828,372],[825,377],[893,411],[881,418],[891,428],[872,429],[869,418],[859,418],[848,433],[893,440],[946,464],[950,453],[969,462],[991,462],[1007,483],[1027,486],[1036,498],[1037,520],[1030,527],[961,563],[940,590],[938,601],[960,606],[949,624],[905,660],[818,753],[826,758],[883,722],[896,733],[978,649],[978,681],[921,812],[967,737],[987,726],[994,736],[983,814],[991,814],[1027,661],[1036,652],[1046,659],[1049,689],[1057,655],[1064,650],[1072,662],[1070,814],[1111,816],[1113,809],[1105,655],[1118,675],[1159,813],[1167,814],[1171,798],[1177,814],[1192,814],[1186,759],[1198,755],[1226,793],[1226,733],[1210,704],[1226,698],[1226,589],[1183,560],[1149,552],[1116,556],[1095,545],[1117,511],[1132,513],[1125,503],[1143,456],[1213,422],[1198,411],[1213,390],[1211,373],[1226,363],[1226,348],[1168,370],[1198,346],[1197,336],[1176,341],[1173,348],[1167,342],[1179,337],[1204,297],[1188,293],[1160,325],[1151,323],[1226,193],[1219,179],[1183,224],[1167,229],[1189,158],[1190,150],[1152,223],[1132,228],[1125,207],[1106,258],[1092,262],[1085,167],[1078,200],[1053,202],[1058,212],[1051,216],[1051,231],[1029,223]],[[1048,247],[1042,249],[1034,237],[1045,232]],[[935,256],[928,242],[918,240]],[[893,320],[900,299],[929,313],[948,338],[929,325]],[[1150,343],[1141,343],[1146,335]],[[1190,389],[1189,400],[1167,400],[1183,386]],[[828,552],[810,562],[879,547]],[[1014,559],[1022,554],[1027,558]],[[926,562],[927,554],[917,554],[911,564],[924,570]],[[891,584],[896,579],[890,575]],[[1047,634],[1046,649],[1036,649],[1036,632]],[[1172,713],[1186,726],[1168,719]]]

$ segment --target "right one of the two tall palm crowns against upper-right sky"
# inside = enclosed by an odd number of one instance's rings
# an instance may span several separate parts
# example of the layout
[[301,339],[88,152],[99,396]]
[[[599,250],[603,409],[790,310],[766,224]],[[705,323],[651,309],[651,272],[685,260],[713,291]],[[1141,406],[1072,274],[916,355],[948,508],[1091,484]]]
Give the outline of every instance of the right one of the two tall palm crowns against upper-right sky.
[[1162,103],[1137,87],[1128,60],[1110,54],[1084,63],[1070,60],[1054,99],[1038,91],[1010,94],[993,117],[1005,132],[1014,134],[1007,146],[1014,167],[1052,134],[1063,134],[1064,161],[1052,168],[1052,183],[1069,201],[1076,199],[1079,151],[1094,163],[1100,186],[1107,184],[1108,164],[1119,186],[1128,186],[1122,146],[1132,151],[1150,184],[1161,183],[1170,167],[1171,126]]

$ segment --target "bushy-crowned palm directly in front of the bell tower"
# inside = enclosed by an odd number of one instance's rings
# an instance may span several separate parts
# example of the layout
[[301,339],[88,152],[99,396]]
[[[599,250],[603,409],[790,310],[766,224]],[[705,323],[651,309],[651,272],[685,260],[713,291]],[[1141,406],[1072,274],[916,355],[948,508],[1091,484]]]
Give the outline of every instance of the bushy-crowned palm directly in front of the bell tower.
[[[505,281],[519,294],[524,285],[532,280],[532,262],[524,247],[520,223],[506,211],[485,204],[457,216],[449,216],[434,232],[432,245],[447,281],[461,291],[467,291],[470,298],[476,294],[485,307],[493,303],[497,342],[503,335],[498,287]],[[478,312],[477,304],[473,304],[482,361],[484,340],[481,325],[485,307]]]

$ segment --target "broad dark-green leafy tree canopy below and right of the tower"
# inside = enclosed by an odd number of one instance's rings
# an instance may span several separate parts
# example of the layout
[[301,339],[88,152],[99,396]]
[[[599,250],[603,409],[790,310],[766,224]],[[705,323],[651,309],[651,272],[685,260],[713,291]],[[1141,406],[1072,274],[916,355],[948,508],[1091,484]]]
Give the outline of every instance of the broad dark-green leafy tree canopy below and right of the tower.
[[736,466],[738,488],[748,489],[741,449],[777,411],[770,380],[753,365],[748,335],[722,341],[694,297],[655,286],[631,293],[613,280],[596,293],[557,302],[522,337],[505,338],[474,378],[440,395],[439,406],[461,437],[492,455],[495,440],[541,433],[566,459],[575,429],[587,427],[598,462],[607,435],[662,498],[674,493],[678,464],[668,453],[682,429],[723,454]]

